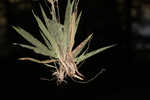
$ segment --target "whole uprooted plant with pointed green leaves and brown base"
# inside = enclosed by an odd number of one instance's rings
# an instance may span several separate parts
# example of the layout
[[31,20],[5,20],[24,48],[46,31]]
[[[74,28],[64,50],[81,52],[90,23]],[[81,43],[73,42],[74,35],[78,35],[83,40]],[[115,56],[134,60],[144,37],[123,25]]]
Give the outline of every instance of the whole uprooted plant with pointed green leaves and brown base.
[[54,68],[55,72],[52,75],[56,77],[57,83],[62,83],[66,77],[84,80],[84,76],[78,71],[77,65],[83,60],[97,53],[100,53],[108,48],[111,48],[114,45],[103,47],[91,51],[89,53],[82,53],[83,48],[92,38],[93,34],[91,34],[77,47],[75,47],[75,49],[73,49],[75,44],[75,35],[82,14],[82,12],[80,12],[79,15],[77,14],[78,1],[75,2],[75,0],[73,0],[71,2],[70,0],[68,0],[64,24],[60,23],[59,8],[57,6],[58,0],[48,1],[51,4],[51,18],[47,17],[44,9],[40,6],[45,24],[33,12],[33,15],[40,28],[41,37],[44,39],[46,45],[34,38],[30,33],[25,31],[24,29],[14,26],[13,28],[33,46],[17,43],[15,43],[15,45],[31,49],[37,54],[49,57],[49,59],[40,61],[34,58],[26,57],[20,58],[19,60],[30,60],[36,63],[44,64],[47,67]]

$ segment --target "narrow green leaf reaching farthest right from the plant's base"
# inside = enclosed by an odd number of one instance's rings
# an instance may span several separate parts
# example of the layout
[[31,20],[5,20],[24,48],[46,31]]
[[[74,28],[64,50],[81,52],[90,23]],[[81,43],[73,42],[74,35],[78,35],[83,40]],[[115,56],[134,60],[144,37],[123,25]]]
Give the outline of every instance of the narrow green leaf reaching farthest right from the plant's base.
[[81,61],[83,61],[83,60],[85,60],[85,59],[87,59],[87,58],[89,58],[89,57],[91,57],[91,56],[93,56],[93,55],[95,55],[95,54],[97,54],[97,53],[103,52],[104,50],[107,50],[107,49],[109,49],[109,48],[111,48],[111,47],[114,47],[114,46],[115,46],[115,45],[103,47],[103,48],[100,48],[100,49],[91,51],[90,53],[87,53],[87,54],[85,54],[85,55],[81,55],[80,57],[75,58],[75,62],[78,64],[78,63],[80,63]]

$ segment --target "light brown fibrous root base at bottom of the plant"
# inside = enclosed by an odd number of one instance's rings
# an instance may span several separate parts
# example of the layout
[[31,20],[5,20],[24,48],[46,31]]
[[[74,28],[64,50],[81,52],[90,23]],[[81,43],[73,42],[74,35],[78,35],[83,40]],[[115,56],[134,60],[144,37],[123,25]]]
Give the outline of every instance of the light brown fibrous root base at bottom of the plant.
[[67,76],[70,78],[84,80],[84,76],[78,71],[75,62],[69,53],[59,58],[59,65],[59,68],[53,73],[53,75],[57,78],[57,83],[60,84],[65,81]]

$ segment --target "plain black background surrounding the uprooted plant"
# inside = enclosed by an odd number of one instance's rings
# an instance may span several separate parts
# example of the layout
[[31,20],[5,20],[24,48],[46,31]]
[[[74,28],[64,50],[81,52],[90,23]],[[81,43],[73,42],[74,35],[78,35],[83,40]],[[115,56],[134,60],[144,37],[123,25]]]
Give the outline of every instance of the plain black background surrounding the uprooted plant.
[[[138,0],[133,1],[139,2]],[[4,13],[1,12],[0,15],[5,20],[5,24],[1,24],[1,30],[5,30],[1,32],[3,34],[0,34],[0,40],[5,41],[0,41],[0,66],[1,71],[4,72],[2,79],[4,78],[7,83],[8,89],[38,90],[43,97],[55,98],[69,98],[69,96],[74,99],[88,97],[92,100],[147,98],[150,93],[150,50],[136,48],[136,43],[141,41],[141,38],[136,38],[137,35],[132,32],[132,23],[138,21],[139,18],[136,19],[132,16],[133,1],[80,0],[79,11],[82,10],[83,15],[76,44],[93,32],[94,37],[90,43],[89,51],[111,44],[118,45],[84,62],[80,71],[88,79],[95,76],[102,68],[106,69],[94,81],[88,84],[79,84],[69,80],[68,84],[61,86],[57,86],[55,81],[40,80],[39,82],[39,68],[40,77],[46,78],[50,75],[48,69],[40,64],[29,61],[22,62],[17,59],[24,56],[44,58],[30,50],[12,45],[15,42],[27,42],[11,28],[11,25],[21,26],[35,37],[40,38],[31,9],[40,14],[38,4],[41,3],[46,10],[44,0],[6,0],[1,2],[3,5],[1,11]],[[146,3],[148,2],[146,1]],[[66,0],[60,0],[61,12],[65,10],[65,5]],[[140,12],[138,9],[137,11]],[[144,43],[142,42],[142,45]]]

